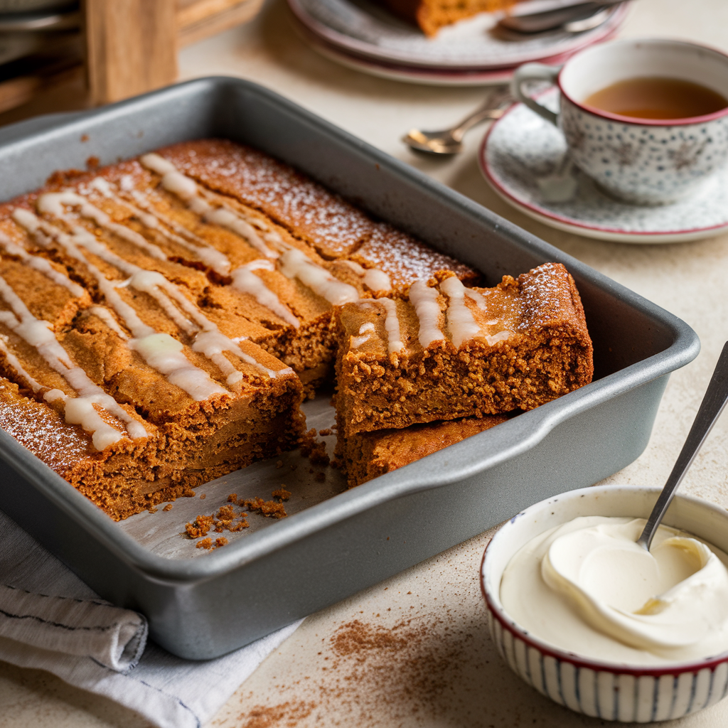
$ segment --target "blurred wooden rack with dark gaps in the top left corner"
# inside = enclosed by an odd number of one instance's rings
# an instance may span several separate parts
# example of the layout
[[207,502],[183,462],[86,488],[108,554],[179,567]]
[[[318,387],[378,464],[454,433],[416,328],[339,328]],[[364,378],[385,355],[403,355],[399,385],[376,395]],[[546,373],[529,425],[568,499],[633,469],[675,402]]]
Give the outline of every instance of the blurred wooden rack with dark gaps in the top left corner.
[[43,0],[0,0],[0,31],[8,28],[0,32],[0,124],[41,113],[44,99],[59,110],[84,108],[173,83],[179,48],[248,22],[262,4],[47,0],[44,9]]

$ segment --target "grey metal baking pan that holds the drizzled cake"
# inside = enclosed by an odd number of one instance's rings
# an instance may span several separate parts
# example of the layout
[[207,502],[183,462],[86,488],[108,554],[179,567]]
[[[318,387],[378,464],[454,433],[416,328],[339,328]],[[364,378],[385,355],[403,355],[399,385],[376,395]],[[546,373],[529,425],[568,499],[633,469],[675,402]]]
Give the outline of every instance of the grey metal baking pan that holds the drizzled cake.
[[[200,488],[198,494],[207,491],[204,501],[178,499],[168,513],[123,523],[0,431],[0,507],[101,596],[146,614],[158,644],[181,657],[218,656],[523,507],[596,483],[644,450],[669,373],[699,350],[687,324],[256,84],[200,79],[2,130],[0,199],[36,189],[54,170],[83,168],[88,157],[116,162],[213,136],[248,143],[304,170],[480,269],[488,285],[506,273],[561,261],[584,301],[595,381],[350,491],[341,491],[331,474],[317,486],[306,483],[307,462],[292,454],[282,466],[257,464]],[[327,422],[325,399],[307,408],[317,423]],[[297,470],[290,469],[293,457]],[[186,514],[211,513],[224,494],[254,491],[271,479],[299,494],[288,518],[259,518],[256,529],[213,553],[178,534]]]

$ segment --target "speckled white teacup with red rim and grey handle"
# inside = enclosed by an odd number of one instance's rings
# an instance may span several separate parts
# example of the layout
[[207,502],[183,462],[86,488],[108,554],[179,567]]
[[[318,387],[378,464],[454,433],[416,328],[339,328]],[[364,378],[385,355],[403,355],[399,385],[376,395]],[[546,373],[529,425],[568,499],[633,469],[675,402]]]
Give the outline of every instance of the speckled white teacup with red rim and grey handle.
[[[636,205],[662,205],[694,193],[726,164],[728,106],[686,119],[644,119],[585,104],[590,95],[639,77],[681,79],[728,98],[728,55],[684,41],[616,41],[582,50],[563,66],[526,63],[512,90],[563,132],[574,164],[605,191]],[[558,86],[558,114],[526,95],[524,84],[534,81]]]

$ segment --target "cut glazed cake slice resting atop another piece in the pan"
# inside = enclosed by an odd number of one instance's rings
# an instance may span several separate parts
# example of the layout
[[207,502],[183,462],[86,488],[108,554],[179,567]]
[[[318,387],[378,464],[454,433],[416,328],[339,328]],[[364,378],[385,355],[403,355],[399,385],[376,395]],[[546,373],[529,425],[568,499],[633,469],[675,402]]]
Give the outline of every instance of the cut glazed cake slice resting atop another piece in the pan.
[[592,344],[574,280],[547,263],[495,288],[452,273],[337,315],[339,432],[529,410],[582,387]]

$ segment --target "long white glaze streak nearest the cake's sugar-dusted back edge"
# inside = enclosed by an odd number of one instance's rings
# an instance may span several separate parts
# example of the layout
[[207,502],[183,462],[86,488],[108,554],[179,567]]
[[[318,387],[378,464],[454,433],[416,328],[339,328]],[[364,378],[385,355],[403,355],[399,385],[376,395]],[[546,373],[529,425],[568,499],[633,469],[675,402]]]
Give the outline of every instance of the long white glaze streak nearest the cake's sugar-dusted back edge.
[[266,258],[278,257],[278,253],[275,253],[265,244],[256,229],[243,219],[242,215],[237,214],[228,207],[214,207],[201,194],[197,182],[179,172],[167,159],[160,157],[159,154],[144,154],[139,161],[143,167],[162,175],[162,187],[175,197],[179,197],[192,212],[200,215],[203,220],[240,235],[250,245],[253,245],[253,248],[263,253]]

